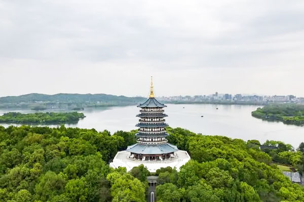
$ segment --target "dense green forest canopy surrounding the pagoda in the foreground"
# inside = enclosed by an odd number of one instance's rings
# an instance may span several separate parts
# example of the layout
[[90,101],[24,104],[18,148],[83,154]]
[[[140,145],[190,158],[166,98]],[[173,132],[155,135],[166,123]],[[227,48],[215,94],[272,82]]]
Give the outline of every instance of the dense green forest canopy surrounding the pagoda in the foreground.
[[[187,150],[192,160],[179,172],[157,171],[158,201],[304,201],[304,188],[272,164],[257,140],[167,130],[169,141]],[[136,142],[135,133],[0,126],[0,201],[145,201],[146,168],[126,172],[108,165],[117,151]],[[284,145],[276,154],[293,163],[289,152],[296,153],[301,157],[297,164],[303,165],[302,151]]]

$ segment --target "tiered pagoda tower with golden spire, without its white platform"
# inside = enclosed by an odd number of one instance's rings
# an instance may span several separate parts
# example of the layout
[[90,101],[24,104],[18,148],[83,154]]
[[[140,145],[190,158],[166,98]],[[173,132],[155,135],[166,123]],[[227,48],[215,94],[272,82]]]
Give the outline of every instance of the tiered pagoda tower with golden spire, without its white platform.
[[127,151],[130,151],[130,158],[135,158],[142,161],[156,161],[173,158],[174,152],[177,151],[177,146],[168,143],[166,132],[168,124],[165,123],[164,108],[167,107],[155,98],[153,81],[151,77],[149,98],[137,107],[140,109],[139,123],[136,124],[138,133],[136,133],[137,143],[128,146]]

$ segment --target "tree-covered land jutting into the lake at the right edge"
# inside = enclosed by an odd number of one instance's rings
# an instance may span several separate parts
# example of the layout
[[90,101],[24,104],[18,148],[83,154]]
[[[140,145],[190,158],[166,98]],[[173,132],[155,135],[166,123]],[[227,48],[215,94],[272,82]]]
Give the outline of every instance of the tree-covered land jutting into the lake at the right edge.
[[304,125],[304,105],[278,104],[257,108],[251,112],[253,117],[269,120],[282,121],[286,124]]

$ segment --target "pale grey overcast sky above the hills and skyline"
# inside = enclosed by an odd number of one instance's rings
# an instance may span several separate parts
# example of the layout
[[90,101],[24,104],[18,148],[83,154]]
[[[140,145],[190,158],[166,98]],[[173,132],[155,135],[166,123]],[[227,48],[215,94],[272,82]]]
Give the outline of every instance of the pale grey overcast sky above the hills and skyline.
[[304,1],[0,0],[0,96],[304,96]]

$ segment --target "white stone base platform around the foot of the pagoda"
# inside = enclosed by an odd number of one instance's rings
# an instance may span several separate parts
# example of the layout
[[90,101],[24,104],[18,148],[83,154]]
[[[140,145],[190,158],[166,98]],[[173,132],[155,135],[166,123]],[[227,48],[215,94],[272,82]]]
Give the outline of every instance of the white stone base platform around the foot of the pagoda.
[[186,164],[191,158],[187,151],[177,150],[174,152],[174,157],[163,161],[142,161],[134,158],[130,158],[131,153],[129,151],[119,151],[113,162],[110,163],[110,167],[126,167],[127,171],[130,171],[133,167],[143,164],[149,172],[156,172],[157,169],[170,166],[179,171],[180,167]]

